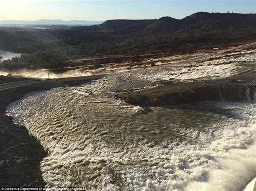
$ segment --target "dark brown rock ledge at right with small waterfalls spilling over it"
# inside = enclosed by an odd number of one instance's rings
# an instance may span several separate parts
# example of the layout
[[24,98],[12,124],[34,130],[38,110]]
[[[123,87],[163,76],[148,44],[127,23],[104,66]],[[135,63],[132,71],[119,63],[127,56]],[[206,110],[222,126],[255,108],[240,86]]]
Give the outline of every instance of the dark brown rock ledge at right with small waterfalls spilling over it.
[[[207,82],[165,82],[160,86],[118,94],[134,105],[163,106],[202,101],[254,101],[255,73],[235,76],[233,79]],[[246,80],[245,80],[246,79]]]

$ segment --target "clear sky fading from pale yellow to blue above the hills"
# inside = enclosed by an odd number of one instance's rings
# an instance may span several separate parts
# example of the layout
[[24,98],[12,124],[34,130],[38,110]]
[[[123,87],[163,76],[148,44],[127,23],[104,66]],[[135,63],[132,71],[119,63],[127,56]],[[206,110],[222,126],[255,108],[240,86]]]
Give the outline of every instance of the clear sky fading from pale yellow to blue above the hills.
[[0,20],[184,18],[199,11],[255,13],[256,0],[0,0]]

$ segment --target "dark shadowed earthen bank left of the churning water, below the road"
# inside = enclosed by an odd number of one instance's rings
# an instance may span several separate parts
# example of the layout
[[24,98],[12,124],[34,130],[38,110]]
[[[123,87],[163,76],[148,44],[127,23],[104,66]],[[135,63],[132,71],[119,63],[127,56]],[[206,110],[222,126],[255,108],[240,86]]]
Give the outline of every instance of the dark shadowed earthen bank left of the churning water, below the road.
[[[16,80],[9,78],[8,81]],[[45,186],[40,164],[47,155],[43,146],[35,137],[29,135],[24,126],[14,124],[12,118],[5,114],[6,105],[33,91],[48,90],[60,86],[76,86],[86,81],[89,80],[53,82],[0,90],[1,186]]]

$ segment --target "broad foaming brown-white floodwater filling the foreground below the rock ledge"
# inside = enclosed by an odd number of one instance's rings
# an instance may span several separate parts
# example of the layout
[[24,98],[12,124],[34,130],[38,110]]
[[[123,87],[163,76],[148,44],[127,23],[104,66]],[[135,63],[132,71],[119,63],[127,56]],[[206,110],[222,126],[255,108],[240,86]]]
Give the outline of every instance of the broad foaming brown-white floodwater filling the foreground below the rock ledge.
[[30,94],[7,111],[48,150],[49,187],[233,191],[255,177],[255,103],[149,109],[83,86]]

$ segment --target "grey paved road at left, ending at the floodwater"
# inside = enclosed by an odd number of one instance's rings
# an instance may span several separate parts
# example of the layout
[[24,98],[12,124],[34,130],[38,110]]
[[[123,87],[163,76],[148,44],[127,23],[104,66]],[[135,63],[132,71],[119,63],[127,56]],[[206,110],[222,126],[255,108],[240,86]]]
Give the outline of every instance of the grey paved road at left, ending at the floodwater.
[[79,77],[63,77],[58,79],[40,79],[40,80],[26,80],[26,81],[19,81],[19,82],[11,82],[11,83],[3,83],[0,84],[0,91],[6,89],[13,89],[18,87],[24,86],[31,86],[35,84],[45,84],[45,83],[58,83],[58,82],[72,82],[78,80],[97,80],[99,78],[104,77],[105,74],[101,75],[91,75],[91,76],[79,76]]

